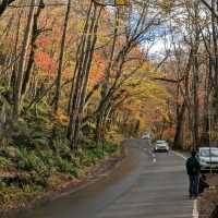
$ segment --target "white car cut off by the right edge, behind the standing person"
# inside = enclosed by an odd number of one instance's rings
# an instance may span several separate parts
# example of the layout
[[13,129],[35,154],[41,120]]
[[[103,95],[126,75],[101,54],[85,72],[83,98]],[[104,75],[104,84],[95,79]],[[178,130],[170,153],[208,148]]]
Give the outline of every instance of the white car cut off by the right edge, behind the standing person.
[[218,147],[199,147],[197,158],[201,171],[218,169]]

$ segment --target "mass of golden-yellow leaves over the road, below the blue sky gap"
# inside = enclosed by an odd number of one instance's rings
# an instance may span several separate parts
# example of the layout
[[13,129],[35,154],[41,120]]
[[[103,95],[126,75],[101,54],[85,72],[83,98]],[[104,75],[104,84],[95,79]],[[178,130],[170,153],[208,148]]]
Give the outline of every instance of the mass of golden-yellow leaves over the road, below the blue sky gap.
[[[141,129],[162,120],[168,122],[170,120],[168,102],[172,100],[166,84],[158,83],[153,78],[153,66],[147,63],[144,69],[146,68],[150,70],[149,73],[142,70],[140,74],[129,78],[123,85],[129,93],[129,98],[119,109],[140,120]],[[164,74],[159,72],[158,76],[161,77]]]

